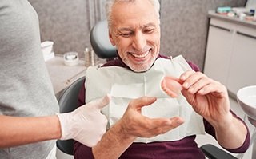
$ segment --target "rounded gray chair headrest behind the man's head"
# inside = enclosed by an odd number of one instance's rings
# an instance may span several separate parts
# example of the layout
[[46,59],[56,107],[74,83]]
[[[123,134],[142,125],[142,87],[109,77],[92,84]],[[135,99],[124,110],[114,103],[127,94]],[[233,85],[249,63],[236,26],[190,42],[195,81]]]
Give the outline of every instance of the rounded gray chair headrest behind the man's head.
[[110,43],[106,19],[97,22],[90,30],[90,45],[98,58],[117,57],[117,49]]

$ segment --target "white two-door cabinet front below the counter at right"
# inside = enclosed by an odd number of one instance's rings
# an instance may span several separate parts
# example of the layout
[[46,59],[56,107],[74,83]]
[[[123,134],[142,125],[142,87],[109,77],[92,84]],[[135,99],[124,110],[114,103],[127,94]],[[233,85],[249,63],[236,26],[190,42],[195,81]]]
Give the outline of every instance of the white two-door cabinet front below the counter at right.
[[230,93],[256,85],[255,28],[210,19],[204,73],[220,81]]

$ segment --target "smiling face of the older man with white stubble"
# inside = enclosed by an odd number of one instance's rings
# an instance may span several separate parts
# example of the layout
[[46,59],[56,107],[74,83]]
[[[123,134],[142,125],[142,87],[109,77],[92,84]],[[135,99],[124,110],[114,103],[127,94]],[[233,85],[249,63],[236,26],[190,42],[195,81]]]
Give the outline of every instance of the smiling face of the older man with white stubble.
[[135,72],[149,70],[160,47],[160,24],[154,6],[145,0],[117,2],[112,16],[110,41],[122,61]]

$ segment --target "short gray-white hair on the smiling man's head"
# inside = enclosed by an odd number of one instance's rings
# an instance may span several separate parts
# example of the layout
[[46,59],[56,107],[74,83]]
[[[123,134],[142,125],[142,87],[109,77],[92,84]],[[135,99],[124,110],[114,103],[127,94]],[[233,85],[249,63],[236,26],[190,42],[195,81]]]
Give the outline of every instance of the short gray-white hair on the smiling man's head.
[[[155,12],[157,14],[158,21],[160,23],[160,3],[159,0],[148,0],[150,3],[154,6]],[[109,27],[109,30],[111,29],[111,24],[113,22],[113,18],[111,15],[112,7],[114,6],[114,3],[116,2],[136,2],[136,0],[106,0],[106,20]]]

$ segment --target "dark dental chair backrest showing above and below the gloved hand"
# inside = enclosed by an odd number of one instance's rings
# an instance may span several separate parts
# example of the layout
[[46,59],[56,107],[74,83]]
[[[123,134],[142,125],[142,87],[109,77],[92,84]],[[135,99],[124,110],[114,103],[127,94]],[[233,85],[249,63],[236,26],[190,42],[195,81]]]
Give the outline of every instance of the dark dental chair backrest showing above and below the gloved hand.
[[[58,99],[60,113],[68,113],[78,108],[78,94],[83,85],[85,77],[79,78],[74,81],[69,87],[66,88],[62,96]],[[57,141],[57,147],[63,153],[73,155],[74,140]]]

